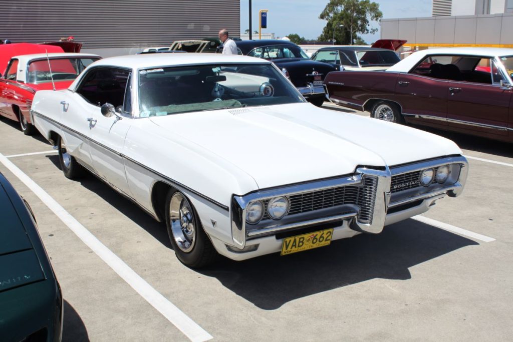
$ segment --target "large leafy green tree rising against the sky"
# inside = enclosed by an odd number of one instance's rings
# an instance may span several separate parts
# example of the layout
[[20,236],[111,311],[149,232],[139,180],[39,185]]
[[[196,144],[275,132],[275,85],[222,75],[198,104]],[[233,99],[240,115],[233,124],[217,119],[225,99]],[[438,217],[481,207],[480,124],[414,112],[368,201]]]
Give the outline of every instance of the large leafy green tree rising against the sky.
[[319,15],[320,19],[327,21],[319,38],[321,41],[331,41],[334,34],[338,44],[352,45],[357,38],[361,40],[358,33],[378,31],[377,28],[370,29],[369,25],[382,17],[380,5],[370,0],[330,0]]

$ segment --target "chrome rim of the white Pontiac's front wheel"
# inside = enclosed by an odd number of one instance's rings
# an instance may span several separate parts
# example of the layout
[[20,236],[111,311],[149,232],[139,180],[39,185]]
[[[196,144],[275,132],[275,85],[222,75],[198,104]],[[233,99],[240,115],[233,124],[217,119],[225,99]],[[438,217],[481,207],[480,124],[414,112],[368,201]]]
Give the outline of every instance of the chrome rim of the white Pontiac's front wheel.
[[176,246],[184,252],[190,252],[196,243],[196,223],[189,201],[180,192],[171,197],[169,222]]

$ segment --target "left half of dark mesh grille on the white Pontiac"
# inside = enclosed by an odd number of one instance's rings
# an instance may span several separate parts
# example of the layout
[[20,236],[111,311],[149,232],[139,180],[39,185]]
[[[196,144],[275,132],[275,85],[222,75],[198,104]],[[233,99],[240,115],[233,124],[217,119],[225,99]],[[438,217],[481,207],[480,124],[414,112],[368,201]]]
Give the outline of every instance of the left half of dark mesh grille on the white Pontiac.
[[[361,186],[347,185],[288,196],[290,209],[287,215],[350,204],[360,208],[358,220],[361,223],[371,223],[377,184],[378,178],[364,177]],[[267,203],[268,200],[264,200],[266,212],[263,220],[270,218]]]

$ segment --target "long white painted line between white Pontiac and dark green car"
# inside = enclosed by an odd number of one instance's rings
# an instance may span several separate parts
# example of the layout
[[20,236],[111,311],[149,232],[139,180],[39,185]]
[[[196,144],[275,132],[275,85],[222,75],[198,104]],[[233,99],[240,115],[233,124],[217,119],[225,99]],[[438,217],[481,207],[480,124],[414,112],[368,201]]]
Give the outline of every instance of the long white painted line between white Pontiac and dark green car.
[[166,317],[176,328],[182,331],[191,341],[206,341],[212,337],[191,318],[174,306],[166,297],[155,290],[139,274],[135,273],[124,261],[91,234],[80,222],[68,213],[45,190],[38,186],[29,176],[16,167],[6,156],[0,153],[0,163],[4,164],[16,177],[19,178],[32,192],[66,226],[73,231],[94,253],[110,266],[128,285],[139,293],[148,303]]

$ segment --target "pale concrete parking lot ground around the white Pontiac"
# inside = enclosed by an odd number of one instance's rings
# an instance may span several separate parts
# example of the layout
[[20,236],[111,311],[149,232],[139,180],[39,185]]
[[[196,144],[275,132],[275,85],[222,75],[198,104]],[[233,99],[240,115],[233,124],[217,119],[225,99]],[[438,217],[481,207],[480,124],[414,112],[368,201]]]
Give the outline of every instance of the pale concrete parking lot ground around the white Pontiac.
[[461,197],[379,235],[196,271],[164,224],[92,175],[67,179],[45,139],[1,121],[0,172],[34,211],[65,341],[511,339],[511,145],[433,131],[468,157]]

